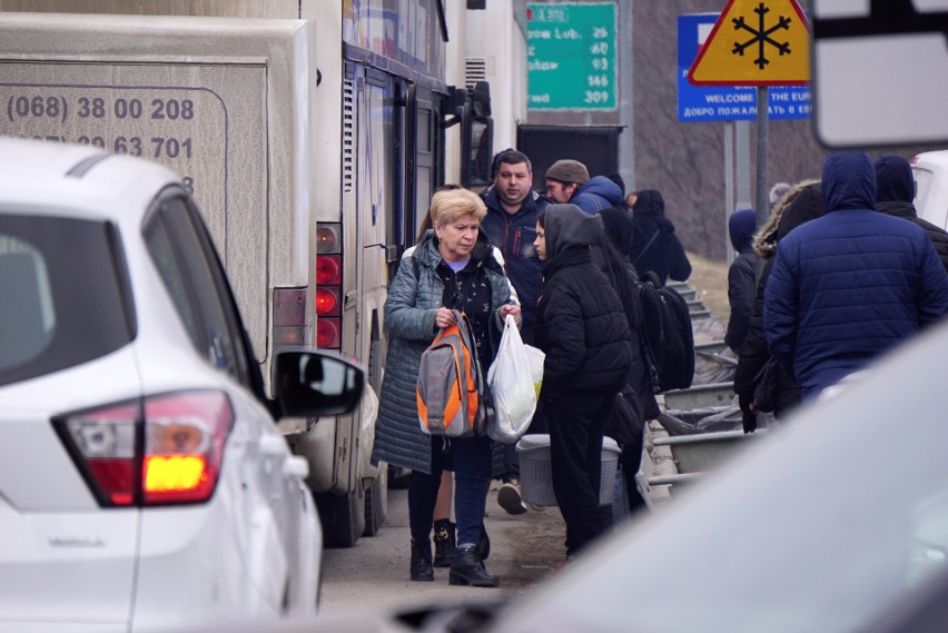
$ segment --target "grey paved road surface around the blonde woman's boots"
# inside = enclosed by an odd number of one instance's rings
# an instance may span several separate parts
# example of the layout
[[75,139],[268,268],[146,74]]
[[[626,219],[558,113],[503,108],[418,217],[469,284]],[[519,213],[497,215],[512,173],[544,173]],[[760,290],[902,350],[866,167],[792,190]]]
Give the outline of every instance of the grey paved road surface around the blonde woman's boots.
[[379,534],[355,547],[326,550],[322,610],[388,609],[447,601],[498,600],[517,595],[550,576],[563,557],[565,527],[555,507],[511,516],[497,505],[500,482],[487,495],[485,525],[491,535],[486,567],[501,578],[498,589],[450,586],[447,570],[435,568],[435,582],[408,580],[407,491],[388,492],[388,520]]

